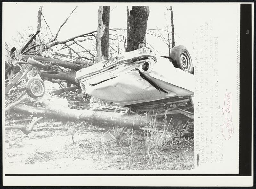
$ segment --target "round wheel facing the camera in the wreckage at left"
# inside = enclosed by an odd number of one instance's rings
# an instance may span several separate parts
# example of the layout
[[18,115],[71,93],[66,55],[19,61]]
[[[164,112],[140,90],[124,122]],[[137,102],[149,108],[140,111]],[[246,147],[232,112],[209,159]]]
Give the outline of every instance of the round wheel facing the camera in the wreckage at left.
[[26,87],[28,95],[32,98],[41,97],[44,95],[45,86],[43,81],[37,78],[30,79]]

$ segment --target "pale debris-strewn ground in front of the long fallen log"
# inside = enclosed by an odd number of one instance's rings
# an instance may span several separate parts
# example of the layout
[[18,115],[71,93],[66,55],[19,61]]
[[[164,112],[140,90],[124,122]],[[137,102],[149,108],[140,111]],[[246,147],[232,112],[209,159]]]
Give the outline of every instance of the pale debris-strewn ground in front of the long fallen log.
[[28,135],[20,130],[5,131],[5,173],[194,168],[191,145],[172,144],[150,160],[145,156],[145,136],[141,131],[131,135],[131,131],[124,130],[121,138],[115,139],[113,128],[99,128],[85,122],[62,123],[58,128],[63,129],[32,131]]

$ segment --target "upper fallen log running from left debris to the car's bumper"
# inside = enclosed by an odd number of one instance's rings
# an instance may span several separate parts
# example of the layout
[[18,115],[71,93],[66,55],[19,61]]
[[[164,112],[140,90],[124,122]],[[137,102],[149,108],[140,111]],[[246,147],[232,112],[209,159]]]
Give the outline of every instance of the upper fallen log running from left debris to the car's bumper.
[[[31,56],[29,55],[21,55],[25,60],[28,60],[28,58],[30,58]],[[72,63],[72,62],[67,62],[67,61],[62,61],[59,59],[54,59],[54,58],[50,58],[50,57],[40,57],[40,56],[35,56],[33,57],[33,59],[40,61],[40,62],[45,62],[45,63],[54,63],[57,64],[61,67],[64,68],[70,68],[73,70],[80,70],[82,68],[86,68],[87,66],[84,65],[85,62],[83,64],[77,64],[77,63]]]

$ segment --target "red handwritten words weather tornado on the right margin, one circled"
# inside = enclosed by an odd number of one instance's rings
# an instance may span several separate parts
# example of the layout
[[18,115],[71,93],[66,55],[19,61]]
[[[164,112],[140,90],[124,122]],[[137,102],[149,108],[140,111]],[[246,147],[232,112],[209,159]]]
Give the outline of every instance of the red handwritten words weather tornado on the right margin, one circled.
[[231,92],[227,92],[227,90],[225,94],[223,109],[223,115],[225,114],[225,121],[222,126],[222,133],[224,139],[229,140],[231,138],[231,135],[234,133],[234,126],[232,123],[231,115]]

